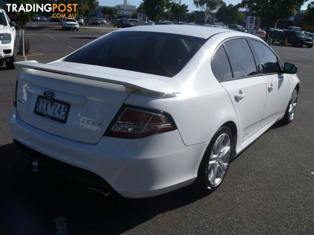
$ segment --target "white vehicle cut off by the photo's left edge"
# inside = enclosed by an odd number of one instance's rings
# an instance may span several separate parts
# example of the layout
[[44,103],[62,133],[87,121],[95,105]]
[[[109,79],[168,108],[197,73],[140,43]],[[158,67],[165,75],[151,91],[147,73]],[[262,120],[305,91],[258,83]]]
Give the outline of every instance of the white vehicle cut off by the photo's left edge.
[[15,25],[3,9],[0,9],[0,66],[5,62],[7,69],[14,69],[16,56]]

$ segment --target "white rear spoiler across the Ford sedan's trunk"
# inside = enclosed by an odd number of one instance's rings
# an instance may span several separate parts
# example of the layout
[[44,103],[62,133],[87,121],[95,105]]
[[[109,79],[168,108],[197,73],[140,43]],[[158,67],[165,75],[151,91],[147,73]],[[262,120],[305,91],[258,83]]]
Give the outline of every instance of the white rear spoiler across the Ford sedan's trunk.
[[92,81],[122,85],[126,88],[131,88],[133,90],[135,89],[163,94],[181,93],[180,91],[178,91],[178,89],[175,89],[171,84],[153,78],[135,79],[131,77],[123,76],[120,77],[95,71],[84,71],[49,64],[41,64],[38,63],[37,61],[15,62],[14,65],[16,67],[20,67],[22,69],[21,71],[34,70],[61,75],[55,76],[54,78],[70,82],[76,82],[74,78],[83,78]]

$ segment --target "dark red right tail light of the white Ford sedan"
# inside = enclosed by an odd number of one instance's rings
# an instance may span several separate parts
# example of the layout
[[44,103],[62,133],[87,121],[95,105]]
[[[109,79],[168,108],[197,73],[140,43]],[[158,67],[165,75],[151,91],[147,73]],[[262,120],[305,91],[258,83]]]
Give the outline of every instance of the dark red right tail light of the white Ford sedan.
[[124,107],[105,132],[106,136],[138,139],[177,129],[172,117],[161,111]]

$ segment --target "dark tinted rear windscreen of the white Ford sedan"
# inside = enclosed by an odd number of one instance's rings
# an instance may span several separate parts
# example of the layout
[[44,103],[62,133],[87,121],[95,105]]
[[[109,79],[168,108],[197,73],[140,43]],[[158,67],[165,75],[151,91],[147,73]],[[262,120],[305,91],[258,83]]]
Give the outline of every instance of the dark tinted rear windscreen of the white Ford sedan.
[[113,32],[64,61],[173,77],[205,41],[171,33]]

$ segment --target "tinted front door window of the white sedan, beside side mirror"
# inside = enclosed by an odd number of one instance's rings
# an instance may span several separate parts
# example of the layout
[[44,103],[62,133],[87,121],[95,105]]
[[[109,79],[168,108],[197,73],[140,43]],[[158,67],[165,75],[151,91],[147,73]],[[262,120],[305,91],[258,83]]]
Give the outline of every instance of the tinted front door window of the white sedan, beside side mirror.
[[263,43],[252,40],[252,46],[262,64],[262,73],[279,72],[280,66],[276,55]]

